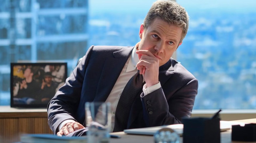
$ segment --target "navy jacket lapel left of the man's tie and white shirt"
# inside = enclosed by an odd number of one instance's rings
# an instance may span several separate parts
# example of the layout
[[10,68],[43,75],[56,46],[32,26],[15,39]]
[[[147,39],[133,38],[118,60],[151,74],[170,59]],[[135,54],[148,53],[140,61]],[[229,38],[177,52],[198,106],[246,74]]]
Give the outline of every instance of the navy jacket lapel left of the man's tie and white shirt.
[[119,77],[133,47],[125,47],[105,59],[94,101],[105,102]]

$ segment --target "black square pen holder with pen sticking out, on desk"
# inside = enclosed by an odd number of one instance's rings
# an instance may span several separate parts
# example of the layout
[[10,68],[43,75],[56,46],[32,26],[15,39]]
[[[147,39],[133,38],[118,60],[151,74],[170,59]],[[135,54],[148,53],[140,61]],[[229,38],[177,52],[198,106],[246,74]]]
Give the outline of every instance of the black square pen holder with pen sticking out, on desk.
[[183,143],[220,143],[220,118],[182,119]]

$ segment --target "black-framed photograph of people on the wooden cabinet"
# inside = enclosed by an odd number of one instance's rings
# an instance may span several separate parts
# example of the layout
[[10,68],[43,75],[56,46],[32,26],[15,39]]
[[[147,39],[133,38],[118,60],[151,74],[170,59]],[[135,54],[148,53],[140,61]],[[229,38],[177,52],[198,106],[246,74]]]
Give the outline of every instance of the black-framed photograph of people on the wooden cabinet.
[[67,63],[11,63],[11,107],[46,108],[67,78]]

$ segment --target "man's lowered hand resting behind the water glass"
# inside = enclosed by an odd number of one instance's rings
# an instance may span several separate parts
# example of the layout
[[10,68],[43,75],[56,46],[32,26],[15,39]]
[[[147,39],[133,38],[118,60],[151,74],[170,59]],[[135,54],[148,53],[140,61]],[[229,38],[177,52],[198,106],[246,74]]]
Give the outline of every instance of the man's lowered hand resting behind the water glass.
[[57,136],[68,135],[69,133],[72,133],[76,130],[83,129],[83,128],[85,128],[85,127],[82,124],[78,123],[78,122],[67,123],[57,133]]

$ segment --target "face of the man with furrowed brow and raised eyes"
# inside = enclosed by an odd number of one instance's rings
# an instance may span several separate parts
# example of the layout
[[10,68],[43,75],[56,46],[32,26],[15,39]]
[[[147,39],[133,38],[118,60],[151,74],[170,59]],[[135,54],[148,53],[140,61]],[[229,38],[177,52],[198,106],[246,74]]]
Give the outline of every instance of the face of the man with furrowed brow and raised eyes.
[[155,19],[147,29],[141,24],[139,50],[148,50],[159,59],[159,66],[165,64],[181,45],[182,28]]

